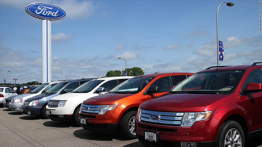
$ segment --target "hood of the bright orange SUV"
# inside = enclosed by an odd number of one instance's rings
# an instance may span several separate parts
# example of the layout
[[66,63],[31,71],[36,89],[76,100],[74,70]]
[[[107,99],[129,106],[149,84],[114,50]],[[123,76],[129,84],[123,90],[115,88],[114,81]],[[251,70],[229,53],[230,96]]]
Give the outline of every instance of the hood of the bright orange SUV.
[[92,97],[83,102],[83,104],[88,105],[111,105],[114,101],[120,100],[125,97],[129,97],[134,94],[118,94],[118,93],[108,93]]

